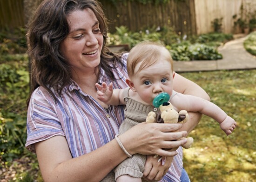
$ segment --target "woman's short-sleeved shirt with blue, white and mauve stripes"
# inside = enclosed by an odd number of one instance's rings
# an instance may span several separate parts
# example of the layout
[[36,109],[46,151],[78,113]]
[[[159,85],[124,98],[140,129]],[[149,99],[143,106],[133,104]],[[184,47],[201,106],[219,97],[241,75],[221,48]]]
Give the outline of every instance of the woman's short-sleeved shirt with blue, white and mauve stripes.
[[[126,65],[128,54],[122,56]],[[103,71],[104,73],[104,71]],[[113,88],[126,88],[127,70],[119,65],[113,69],[116,79],[111,81],[107,75],[101,76],[99,82]],[[34,144],[54,136],[65,136],[72,157],[79,157],[107,144],[115,138],[124,119],[124,106],[110,106],[104,109],[93,97],[84,93],[73,82],[66,86],[61,97],[54,92],[57,102],[42,87],[34,90],[27,111],[26,148],[34,151]],[[174,157],[168,173],[162,182],[179,182],[182,170],[182,148]]]

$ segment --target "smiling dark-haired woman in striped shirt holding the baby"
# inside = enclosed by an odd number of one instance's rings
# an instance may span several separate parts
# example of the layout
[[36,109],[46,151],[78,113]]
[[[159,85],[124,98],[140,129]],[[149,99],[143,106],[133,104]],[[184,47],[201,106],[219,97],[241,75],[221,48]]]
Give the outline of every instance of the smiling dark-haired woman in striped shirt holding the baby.
[[[44,0],[39,6],[27,33],[32,60],[27,149],[36,152],[45,182],[99,182],[105,176],[111,182],[112,169],[127,158],[126,152],[148,155],[147,179],[160,180],[166,174],[163,181],[180,181],[182,149],[163,149],[186,143],[177,139],[194,122],[141,123],[115,139],[124,107],[98,100],[95,83],[126,88],[127,56],[110,53],[106,37],[105,16],[94,0]],[[178,74],[174,89],[209,100],[202,88]],[[190,118],[198,122],[201,115],[190,113]],[[172,133],[181,127],[183,132]],[[167,156],[165,165],[155,154]]]

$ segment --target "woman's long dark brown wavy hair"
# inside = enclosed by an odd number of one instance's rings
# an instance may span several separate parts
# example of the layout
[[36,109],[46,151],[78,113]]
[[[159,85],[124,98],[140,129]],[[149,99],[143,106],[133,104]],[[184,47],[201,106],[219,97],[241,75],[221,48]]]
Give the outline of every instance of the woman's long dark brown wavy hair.
[[[31,92],[42,86],[54,97],[51,88],[61,96],[62,89],[71,83],[71,67],[67,59],[61,54],[60,44],[69,33],[67,16],[77,10],[90,8],[99,21],[103,35],[101,63],[99,67],[105,74],[115,79],[109,69],[115,68],[120,57],[110,54],[105,47],[107,38],[107,19],[101,4],[95,0],[44,0],[28,25],[27,44],[28,55],[31,60]],[[101,73],[100,73],[101,74]]]

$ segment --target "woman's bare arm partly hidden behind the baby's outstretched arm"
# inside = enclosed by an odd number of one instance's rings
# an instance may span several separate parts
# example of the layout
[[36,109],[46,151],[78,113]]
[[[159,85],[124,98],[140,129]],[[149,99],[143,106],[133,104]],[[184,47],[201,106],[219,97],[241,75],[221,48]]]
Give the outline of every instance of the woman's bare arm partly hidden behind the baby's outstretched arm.
[[[177,73],[175,73],[175,77],[173,79],[173,88],[179,93],[198,96],[210,101],[209,95],[199,85]],[[197,126],[201,118],[201,113],[189,112],[189,122],[183,124],[180,130],[190,133],[195,126]]]

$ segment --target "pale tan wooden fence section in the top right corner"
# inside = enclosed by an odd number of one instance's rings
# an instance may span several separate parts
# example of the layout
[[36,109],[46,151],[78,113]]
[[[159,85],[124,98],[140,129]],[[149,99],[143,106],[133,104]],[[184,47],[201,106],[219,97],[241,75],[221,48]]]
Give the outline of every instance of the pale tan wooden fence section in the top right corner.
[[[243,12],[240,10],[242,4]],[[211,22],[223,18],[222,31],[233,33],[236,20],[233,15],[236,14],[237,19],[241,16],[246,19],[255,11],[256,0],[195,0],[196,32],[202,34],[213,31]]]

